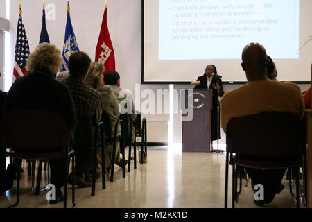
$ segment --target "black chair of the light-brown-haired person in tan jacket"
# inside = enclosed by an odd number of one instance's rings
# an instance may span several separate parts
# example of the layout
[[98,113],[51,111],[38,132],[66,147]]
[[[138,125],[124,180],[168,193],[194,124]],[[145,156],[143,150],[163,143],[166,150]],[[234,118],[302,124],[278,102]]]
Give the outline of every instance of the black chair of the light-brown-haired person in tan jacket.
[[[107,145],[113,145],[113,151],[112,151],[112,160],[110,164],[110,182],[114,182],[114,165],[115,165],[115,155],[116,155],[116,145],[117,142],[120,142],[120,152],[122,155],[122,160],[125,162],[125,141],[123,137],[124,133],[124,124],[123,120],[118,119],[116,122],[116,125],[114,126],[114,137],[112,137],[112,119],[110,119],[110,114],[108,114],[107,111],[103,110],[102,112],[102,119],[105,127],[105,146]],[[121,135],[118,136],[118,126],[121,124]],[[123,170],[123,178],[125,178],[125,166],[122,167]]]

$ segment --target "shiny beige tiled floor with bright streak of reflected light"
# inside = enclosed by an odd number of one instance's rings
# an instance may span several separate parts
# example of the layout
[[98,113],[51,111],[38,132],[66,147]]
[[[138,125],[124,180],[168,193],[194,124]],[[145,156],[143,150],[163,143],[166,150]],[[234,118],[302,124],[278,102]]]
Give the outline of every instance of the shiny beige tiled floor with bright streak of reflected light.
[[[224,150],[224,145],[219,145]],[[127,152],[126,152],[127,153]],[[21,178],[21,200],[17,207],[62,207],[62,203],[49,205],[46,193],[33,195],[31,178],[25,172]],[[101,189],[101,179],[96,182],[96,196],[91,196],[91,188],[76,189],[78,207],[191,207],[220,208],[224,206],[225,154],[224,153],[182,153],[180,144],[168,147],[149,147],[148,162],[137,164],[137,169],[126,173],[122,178],[121,168],[115,167],[114,182],[106,182]],[[231,168],[229,168],[231,172]],[[229,173],[231,178],[231,173]],[[46,185],[46,173],[42,187]],[[288,182],[283,180],[285,189],[277,194],[266,207],[295,207],[289,194]],[[244,184],[243,184],[244,185]],[[16,186],[0,195],[0,207],[8,207],[16,200]],[[229,207],[231,206],[229,179]],[[236,207],[257,207],[254,205],[250,188],[243,186]],[[71,207],[71,185],[69,201]],[[302,206],[301,206],[302,207]]]

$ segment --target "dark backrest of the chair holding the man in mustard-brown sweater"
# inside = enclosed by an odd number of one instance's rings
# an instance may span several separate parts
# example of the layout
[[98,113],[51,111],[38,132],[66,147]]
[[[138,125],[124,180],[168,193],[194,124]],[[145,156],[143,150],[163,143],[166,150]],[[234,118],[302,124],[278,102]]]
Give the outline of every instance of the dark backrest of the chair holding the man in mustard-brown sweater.
[[231,119],[227,152],[257,157],[303,155],[306,145],[300,118],[290,112],[261,112]]

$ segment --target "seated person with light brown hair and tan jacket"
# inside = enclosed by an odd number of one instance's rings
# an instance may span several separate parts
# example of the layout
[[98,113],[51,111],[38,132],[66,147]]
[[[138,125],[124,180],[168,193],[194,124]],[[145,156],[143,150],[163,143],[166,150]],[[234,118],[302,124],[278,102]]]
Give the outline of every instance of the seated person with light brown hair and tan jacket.
[[[110,114],[110,119],[112,121],[112,137],[114,137],[114,128],[116,126],[117,120],[119,119],[119,103],[117,98],[112,92],[112,87],[109,85],[103,85],[103,72],[105,67],[101,62],[91,62],[87,78],[85,79],[86,83],[92,86],[94,89],[97,89],[100,92],[103,102],[103,110]],[[117,136],[121,135],[121,126],[118,126]],[[105,173],[107,177],[110,178],[110,173],[107,171],[107,167],[110,167],[112,160],[112,145],[105,146]],[[98,152],[100,153],[101,150]],[[125,160],[125,163],[122,162],[120,158],[120,146],[119,142],[116,144],[116,156],[115,163],[119,167],[123,167],[123,164],[127,164],[128,160]],[[101,153],[98,155],[98,162],[101,163]]]

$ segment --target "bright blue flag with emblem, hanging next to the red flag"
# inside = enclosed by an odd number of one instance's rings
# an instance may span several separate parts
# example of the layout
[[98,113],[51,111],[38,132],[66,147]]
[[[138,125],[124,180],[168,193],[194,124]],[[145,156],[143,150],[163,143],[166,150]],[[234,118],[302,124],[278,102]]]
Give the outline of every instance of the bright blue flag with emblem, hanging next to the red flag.
[[63,67],[62,71],[68,71],[69,56],[74,51],[79,51],[79,47],[76,41],[75,33],[73,33],[73,26],[71,26],[71,14],[69,12],[69,5],[67,6],[67,22],[65,30],[65,40],[63,46]]

